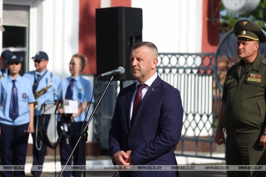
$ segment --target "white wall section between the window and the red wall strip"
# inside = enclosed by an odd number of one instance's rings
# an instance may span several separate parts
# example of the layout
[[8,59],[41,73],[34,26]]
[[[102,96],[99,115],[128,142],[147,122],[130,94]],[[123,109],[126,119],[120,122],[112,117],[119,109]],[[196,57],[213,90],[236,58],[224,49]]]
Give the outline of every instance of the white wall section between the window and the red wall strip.
[[68,63],[78,52],[79,1],[42,1],[42,47],[50,57],[48,69],[61,78],[70,75]]

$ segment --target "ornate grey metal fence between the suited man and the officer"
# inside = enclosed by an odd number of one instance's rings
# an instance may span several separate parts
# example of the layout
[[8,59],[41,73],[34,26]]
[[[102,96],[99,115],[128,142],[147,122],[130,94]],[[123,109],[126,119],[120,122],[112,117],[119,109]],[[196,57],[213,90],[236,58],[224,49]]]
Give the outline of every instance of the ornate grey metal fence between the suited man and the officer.
[[[225,159],[215,156],[213,140],[218,123],[221,90],[215,81],[215,53],[160,53],[159,76],[179,89],[184,109],[181,140],[176,155]],[[224,154],[224,149],[220,152]]]

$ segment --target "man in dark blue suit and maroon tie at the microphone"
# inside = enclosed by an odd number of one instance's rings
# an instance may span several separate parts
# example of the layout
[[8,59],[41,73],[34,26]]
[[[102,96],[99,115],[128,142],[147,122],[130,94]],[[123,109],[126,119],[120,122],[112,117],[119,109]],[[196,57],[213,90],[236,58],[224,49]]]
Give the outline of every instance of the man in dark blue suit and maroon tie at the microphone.
[[[132,47],[130,69],[137,82],[123,88],[116,100],[109,132],[114,164],[177,165],[174,147],[181,137],[183,107],[180,92],[157,75],[157,57],[157,47],[151,42],[138,42]],[[120,171],[119,176],[172,177],[179,173]]]

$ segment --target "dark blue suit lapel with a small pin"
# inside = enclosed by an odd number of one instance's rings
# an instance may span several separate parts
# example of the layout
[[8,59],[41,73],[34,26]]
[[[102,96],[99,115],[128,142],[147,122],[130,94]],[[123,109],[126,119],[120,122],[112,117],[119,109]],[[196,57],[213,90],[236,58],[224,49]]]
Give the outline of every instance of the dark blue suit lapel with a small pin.
[[144,96],[144,98],[142,99],[142,101],[141,101],[141,103],[139,105],[139,109],[138,109],[138,111],[136,113],[134,122],[131,125],[130,131],[133,130],[133,128],[135,127],[135,125],[139,121],[139,118],[142,115],[143,110],[146,108],[147,104],[150,102],[150,99],[155,95],[157,87],[159,87],[160,84],[161,84],[161,78],[159,76],[157,76],[157,78],[153,81],[153,83],[150,86],[150,88],[147,90],[146,95]]

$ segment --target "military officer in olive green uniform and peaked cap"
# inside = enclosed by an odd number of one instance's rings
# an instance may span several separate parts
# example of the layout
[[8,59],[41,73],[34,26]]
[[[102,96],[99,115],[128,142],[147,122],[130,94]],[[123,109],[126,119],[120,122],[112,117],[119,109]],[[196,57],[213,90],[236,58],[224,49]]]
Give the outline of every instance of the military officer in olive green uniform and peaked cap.
[[[258,49],[266,37],[250,20],[239,20],[234,32],[241,60],[227,72],[215,141],[224,143],[225,128],[227,165],[265,165],[266,59]],[[227,176],[259,177],[265,172],[227,171]]]

